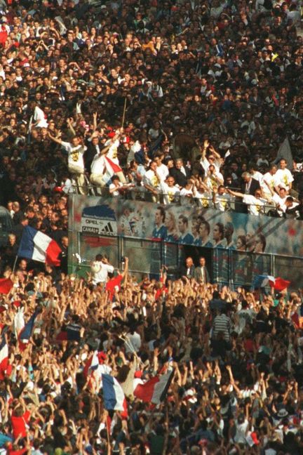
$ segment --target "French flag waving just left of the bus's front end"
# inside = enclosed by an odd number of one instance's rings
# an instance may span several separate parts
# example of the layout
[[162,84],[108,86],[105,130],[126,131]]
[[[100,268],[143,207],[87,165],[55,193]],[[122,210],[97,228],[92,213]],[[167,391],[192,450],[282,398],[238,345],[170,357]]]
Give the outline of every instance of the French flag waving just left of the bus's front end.
[[20,258],[32,259],[49,265],[60,265],[60,259],[58,259],[60,253],[60,246],[55,240],[34,227],[25,226],[18,249]]

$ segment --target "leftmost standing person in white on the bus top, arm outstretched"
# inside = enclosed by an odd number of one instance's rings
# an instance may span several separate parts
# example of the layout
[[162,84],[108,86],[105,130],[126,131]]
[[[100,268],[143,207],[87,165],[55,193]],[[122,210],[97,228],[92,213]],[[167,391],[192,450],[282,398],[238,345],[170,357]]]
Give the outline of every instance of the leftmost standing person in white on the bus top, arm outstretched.
[[87,150],[86,145],[82,145],[81,138],[74,136],[72,143],[67,143],[60,139],[61,133],[59,131],[58,136],[48,136],[55,143],[60,144],[68,153],[68,169],[73,174],[73,178],[76,181],[76,186],[79,194],[86,194],[86,183],[84,178],[84,160],[83,154]]

